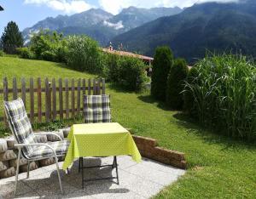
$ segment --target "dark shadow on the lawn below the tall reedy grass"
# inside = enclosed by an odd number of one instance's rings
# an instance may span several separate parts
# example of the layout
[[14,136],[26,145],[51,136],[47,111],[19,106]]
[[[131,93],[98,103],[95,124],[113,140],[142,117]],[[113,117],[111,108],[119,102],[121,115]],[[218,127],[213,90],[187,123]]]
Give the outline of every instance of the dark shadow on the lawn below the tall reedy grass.
[[204,142],[210,145],[224,145],[223,151],[227,149],[256,149],[255,140],[248,141],[239,138],[231,138],[221,131],[201,127],[201,124],[183,112],[176,113],[173,117],[177,119],[178,125],[188,130],[188,134],[200,136]]

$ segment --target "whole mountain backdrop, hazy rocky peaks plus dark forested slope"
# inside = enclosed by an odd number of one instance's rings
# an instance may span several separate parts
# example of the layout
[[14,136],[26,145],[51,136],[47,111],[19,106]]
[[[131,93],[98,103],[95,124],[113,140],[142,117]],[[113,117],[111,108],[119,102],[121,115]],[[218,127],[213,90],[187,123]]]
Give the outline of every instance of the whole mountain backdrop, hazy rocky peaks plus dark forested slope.
[[23,31],[25,39],[34,31],[50,29],[64,35],[86,34],[102,46],[111,41],[117,48],[154,55],[167,45],[176,57],[193,64],[206,51],[250,55],[256,60],[256,1],[239,3],[195,3],[186,9],[130,7],[113,15],[90,9],[71,16],[59,15],[39,21]]

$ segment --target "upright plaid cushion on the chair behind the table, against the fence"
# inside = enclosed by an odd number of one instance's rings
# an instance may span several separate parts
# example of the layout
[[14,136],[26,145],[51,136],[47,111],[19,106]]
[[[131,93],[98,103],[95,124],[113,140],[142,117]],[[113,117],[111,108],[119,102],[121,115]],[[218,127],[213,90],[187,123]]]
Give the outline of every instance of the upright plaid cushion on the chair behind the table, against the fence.
[[111,122],[109,95],[84,95],[84,122]]

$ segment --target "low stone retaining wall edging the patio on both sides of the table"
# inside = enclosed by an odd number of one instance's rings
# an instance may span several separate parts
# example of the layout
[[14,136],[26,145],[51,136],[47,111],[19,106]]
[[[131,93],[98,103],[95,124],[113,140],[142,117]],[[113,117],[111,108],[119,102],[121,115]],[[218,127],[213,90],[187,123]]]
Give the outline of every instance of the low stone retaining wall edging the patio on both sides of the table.
[[[61,138],[67,138],[69,128],[61,129],[54,132],[61,136]],[[177,168],[186,168],[186,162],[184,154],[178,151],[166,150],[157,146],[156,139],[145,138],[141,136],[132,135],[137,144],[138,150],[142,156],[148,157],[158,162],[162,162],[168,165],[172,165]],[[59,140],[55,135],[37,135],[38,142],[46,143]],[[15,149],[15,139],[0,139],[0,179],[9,178],[15,175],[18,150]],[[60,161],[63,161],[63,157],[60,157]],[[45,167],[50,164],[54,164],[54,158],[48,158],[37,162],[30,163],[30,170],[34,170],[40,167]],[[25,158],[20,159],[20,173],[27,171],[27,161]]]

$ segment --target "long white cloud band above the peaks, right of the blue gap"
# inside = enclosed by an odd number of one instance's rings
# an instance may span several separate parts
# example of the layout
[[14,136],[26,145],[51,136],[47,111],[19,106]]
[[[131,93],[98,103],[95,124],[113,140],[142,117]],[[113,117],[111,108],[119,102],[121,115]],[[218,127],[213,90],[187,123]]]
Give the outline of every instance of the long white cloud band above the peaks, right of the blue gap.
[[195,3],[205,2],[238,2],[239,0],[99,0],[99,5],[102,9],[112,13],[118,14],[122,9],[130,6],[140,8],[154,8],[154,7],[189,7]]

